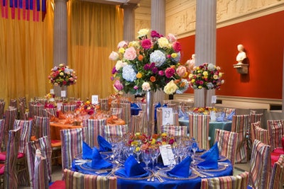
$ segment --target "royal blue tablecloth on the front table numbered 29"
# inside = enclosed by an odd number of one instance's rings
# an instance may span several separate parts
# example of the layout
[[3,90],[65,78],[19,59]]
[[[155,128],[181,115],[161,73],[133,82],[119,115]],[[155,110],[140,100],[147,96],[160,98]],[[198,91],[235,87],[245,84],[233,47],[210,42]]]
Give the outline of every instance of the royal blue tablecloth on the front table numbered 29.
[[[198,161],[198,160],[197,160]],[[226,168],[223,168],[222,171],[207,171],[207,173],[213,174],[214,177],[219,176],[231,176],[233,174],[233,168],[229,162],[229,160],[222,161],[224,163],[228,163],[227,166],[223,166]],[[143,163],[141,163],[143,164]],[[74,165],[74,164],[73,164]],[[158,166],[163,167],[162,164],[159,164]],[[73,171],[79,171],[81,173],[87,173],[87,174],[96,174],[95,171],[86,171],[80,166],[73,166]],[[157,171],[157,169],[156,169]],[[209,178],[209,176],[207,176]],[[200,177],[188,179],[188,180],[172,180],[168,178],[163,178],[164,182],[160,183],[157,178],[155,178],[155,181],[147,181],[144,180],[126,180],[123,178],[117,178],[117,188],[118,189],[151,189],[151,188],[164,188],[164,189],[185,189],[185,188],[200,188],[201,185],[201,179]]]

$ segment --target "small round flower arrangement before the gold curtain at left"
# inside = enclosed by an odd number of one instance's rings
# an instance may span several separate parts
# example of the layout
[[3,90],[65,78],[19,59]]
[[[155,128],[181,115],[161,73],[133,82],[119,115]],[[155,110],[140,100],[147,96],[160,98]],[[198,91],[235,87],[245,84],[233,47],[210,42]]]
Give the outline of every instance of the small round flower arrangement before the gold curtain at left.
[[54,86],[70,86],[77,82],[77,75],[73,69],[65,66],[65,64],[59,64],[58,67],[51,69],[48,76],[50,84]]

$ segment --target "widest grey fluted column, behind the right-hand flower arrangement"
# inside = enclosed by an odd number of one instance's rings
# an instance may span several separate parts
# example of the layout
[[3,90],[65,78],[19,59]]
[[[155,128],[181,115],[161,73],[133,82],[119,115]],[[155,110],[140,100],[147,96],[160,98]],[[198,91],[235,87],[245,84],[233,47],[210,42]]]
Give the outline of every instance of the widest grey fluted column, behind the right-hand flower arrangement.
[[[217,0],[198,0],[196,4],[195,65],[216,64],[216,9]],[[195,90],[195,107],[203,107],[204,89]],[[207,106],[212,106],[214,90],[207,91]]]

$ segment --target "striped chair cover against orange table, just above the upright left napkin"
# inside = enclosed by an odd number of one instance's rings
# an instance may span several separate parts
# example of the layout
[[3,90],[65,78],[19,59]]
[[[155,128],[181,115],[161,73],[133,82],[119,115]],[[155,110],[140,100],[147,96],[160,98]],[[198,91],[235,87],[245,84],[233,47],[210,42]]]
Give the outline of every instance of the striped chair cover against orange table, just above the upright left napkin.
[[107,125],[106,119],[84,119],[84,141],[89,145],[89,147],[99,147],[97,143],[97,136],[99,135],[99,128],[103,125]]

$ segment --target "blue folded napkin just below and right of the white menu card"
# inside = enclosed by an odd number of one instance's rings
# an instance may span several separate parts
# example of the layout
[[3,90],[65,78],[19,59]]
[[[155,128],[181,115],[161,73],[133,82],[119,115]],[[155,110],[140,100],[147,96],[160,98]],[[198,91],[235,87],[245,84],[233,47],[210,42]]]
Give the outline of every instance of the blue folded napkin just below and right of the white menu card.
[[187,156],[185,159],[177,164],[173,169],[167,171],[168,176],[178,177],[178,178],[187,178],[191,175],[190,164],[191,157]]

